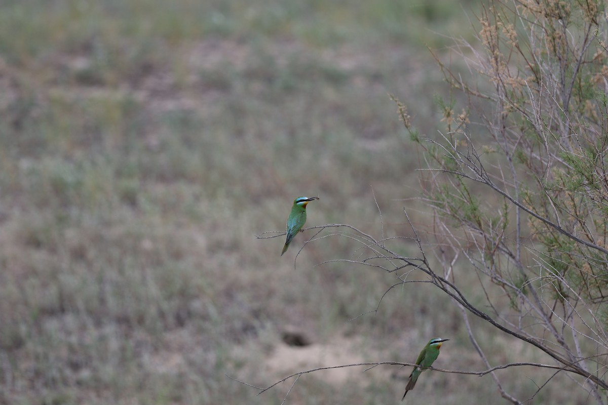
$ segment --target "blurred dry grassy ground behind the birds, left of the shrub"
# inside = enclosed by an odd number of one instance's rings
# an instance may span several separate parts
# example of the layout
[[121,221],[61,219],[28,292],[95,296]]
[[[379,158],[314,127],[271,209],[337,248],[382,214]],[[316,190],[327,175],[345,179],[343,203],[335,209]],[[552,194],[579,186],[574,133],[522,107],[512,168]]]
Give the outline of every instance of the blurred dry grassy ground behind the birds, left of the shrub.
[[[422,132],[444,129],[435,100],[455,96],[426,47],[457,67],[446,45],[474,41],[478,7],[0,2],[0,403],[280,404],[293,379],[255,396],[226,375],[267,387],[320,366],[412,362],[435,336],[452,339],[438,367],[483,369],[432,288],[395,289],[347,322],[396,281],[315,267],[356,257],[351,240],[308,243],[295,260],[312,231],[283,257],[283,237],[255,238],[283,231],[302,195],[320,197],[308,226],[380,237],[375,196],[387,236],[411,234],[404,206],[430,228],[420,151],[389,93]],[[492,342],[505,361],[525,352]],[[362,370],[303,375],[285,403],[399,402],[409,368]],[[508,373],[506,389],[534,393]],[[443,373],[410,396],[498,398],[488,376]]]

